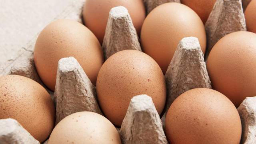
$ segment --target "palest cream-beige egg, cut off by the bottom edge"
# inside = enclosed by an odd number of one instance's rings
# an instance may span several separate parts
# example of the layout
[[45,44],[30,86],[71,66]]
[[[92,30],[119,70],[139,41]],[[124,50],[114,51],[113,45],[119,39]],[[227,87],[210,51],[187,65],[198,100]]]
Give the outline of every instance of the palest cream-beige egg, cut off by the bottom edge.
[[62,119],[48,144],[121,144],[114,125],[94,112],[76,112]]

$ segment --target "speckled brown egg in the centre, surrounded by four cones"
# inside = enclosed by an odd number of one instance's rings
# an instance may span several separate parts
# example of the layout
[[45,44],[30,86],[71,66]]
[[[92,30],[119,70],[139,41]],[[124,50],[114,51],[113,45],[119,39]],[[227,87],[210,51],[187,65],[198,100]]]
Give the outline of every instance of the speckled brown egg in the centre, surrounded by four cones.
[[121,126],[132,97],[147,94],[158,114],[166,100],[160,67],[150,56],[136,50],[123,50],[110,56],[100,68],[96,89],[102,111],[117,126]]

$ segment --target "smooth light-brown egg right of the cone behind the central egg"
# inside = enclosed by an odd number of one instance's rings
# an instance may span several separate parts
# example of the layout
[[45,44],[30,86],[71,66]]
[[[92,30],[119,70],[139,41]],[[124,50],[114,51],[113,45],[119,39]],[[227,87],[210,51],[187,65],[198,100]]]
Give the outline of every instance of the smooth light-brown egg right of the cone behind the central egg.
[[142,50],[159,64],[165,74],[182,38],[198,38],[202,52],[206,33],[199,16],[188,6],[176,2],[156,7],[146,17],[141,30]]

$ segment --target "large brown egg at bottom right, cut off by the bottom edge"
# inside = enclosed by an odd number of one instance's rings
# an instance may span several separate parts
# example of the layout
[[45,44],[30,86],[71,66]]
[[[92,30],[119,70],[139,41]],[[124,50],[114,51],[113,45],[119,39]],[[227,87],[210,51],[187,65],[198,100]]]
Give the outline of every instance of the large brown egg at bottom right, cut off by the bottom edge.
[[168,110],[165,129],[171,144],[239,144],[242,133],[234,104],[208,88],[178,96]]

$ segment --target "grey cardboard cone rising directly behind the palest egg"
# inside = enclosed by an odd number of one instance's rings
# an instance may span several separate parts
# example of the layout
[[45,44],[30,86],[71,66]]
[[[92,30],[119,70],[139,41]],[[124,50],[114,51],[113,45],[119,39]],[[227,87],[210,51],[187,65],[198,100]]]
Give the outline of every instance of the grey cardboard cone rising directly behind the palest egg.
[[55,124],[76,112],[90,111],[102,114],[96,97],[96,88],[74,57],[62,58],[58,62],[55,99]]

